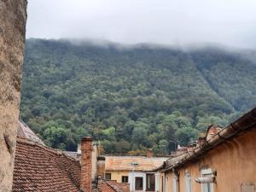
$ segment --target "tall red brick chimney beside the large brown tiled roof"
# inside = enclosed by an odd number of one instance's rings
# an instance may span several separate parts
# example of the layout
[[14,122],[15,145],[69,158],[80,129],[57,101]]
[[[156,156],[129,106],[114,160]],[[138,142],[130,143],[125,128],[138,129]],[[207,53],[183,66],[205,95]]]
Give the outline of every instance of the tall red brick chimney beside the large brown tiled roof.
[[81,189],[90,192],[92,187],[92,138],[81,139]]

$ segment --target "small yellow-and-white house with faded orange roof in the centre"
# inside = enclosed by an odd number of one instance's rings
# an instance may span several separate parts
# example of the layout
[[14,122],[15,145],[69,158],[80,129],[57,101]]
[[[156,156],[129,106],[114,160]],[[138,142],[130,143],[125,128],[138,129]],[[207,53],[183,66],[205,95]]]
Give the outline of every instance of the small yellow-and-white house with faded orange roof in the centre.
[[151,150],[147,156],[105,156],[105,178],[117,183],[130,183],[130,190],[158,190],[158,175],[153,170],[159,167],[166,157],[154,157]]

